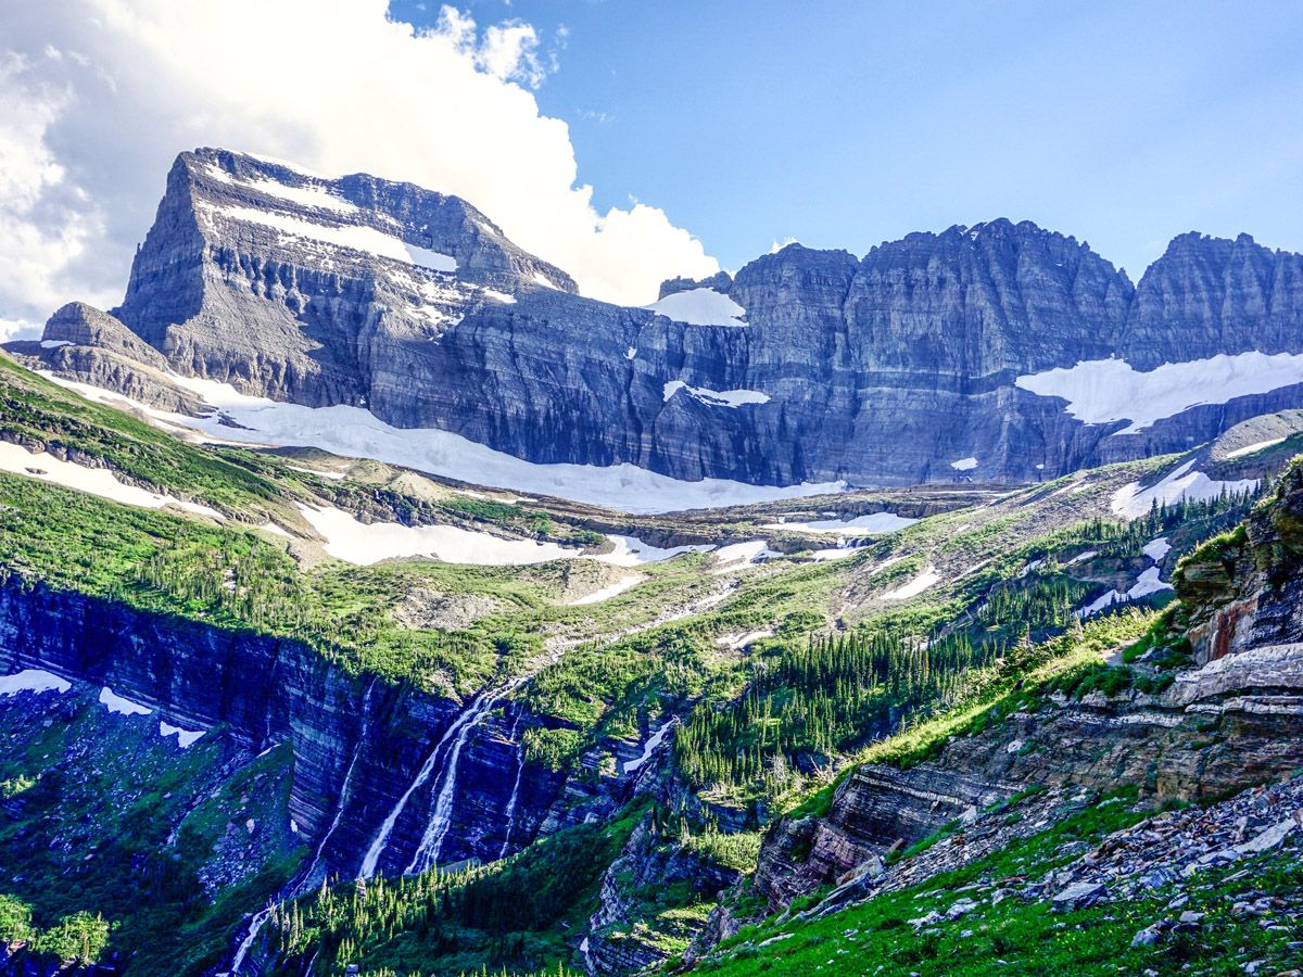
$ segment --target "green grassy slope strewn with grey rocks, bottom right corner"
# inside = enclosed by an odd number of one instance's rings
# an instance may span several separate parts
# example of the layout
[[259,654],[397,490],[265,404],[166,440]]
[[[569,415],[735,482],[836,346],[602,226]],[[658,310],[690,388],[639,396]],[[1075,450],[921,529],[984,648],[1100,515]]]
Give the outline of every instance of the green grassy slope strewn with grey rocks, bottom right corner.
[[808,909],[735,931],[700,969],[1303,973],[1303,778],[1207,806],[1140,806],[1127,792],[1053,789],[984,812]]

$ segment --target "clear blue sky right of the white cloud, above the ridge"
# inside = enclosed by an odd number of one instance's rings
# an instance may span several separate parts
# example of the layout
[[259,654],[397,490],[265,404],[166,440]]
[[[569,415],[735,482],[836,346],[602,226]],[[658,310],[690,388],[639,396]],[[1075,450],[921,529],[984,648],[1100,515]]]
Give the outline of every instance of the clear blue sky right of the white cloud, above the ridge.
[[[477,0],[534,25],[599,208],[730,268],[997,216],[1132,277],[1174,234],[1303,250],[1303,4]],[[431,23],[437,3],[394,0]],[[563,36],[564,33],[564,36]]]

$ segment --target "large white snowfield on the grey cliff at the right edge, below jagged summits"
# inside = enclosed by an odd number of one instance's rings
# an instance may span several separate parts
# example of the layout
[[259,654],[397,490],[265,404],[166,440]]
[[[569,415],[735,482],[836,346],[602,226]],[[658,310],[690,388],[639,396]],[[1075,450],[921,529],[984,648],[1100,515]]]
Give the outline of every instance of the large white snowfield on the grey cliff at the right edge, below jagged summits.
[[1226,404],[1303,383],[1303,354],[1222,353],[1144,373],[1124,360],[1085,360],[1071,367],[1024,374],[1014,383],[1042,397],[1066,400],[1067,413],[1083,423],[1131,421],[1115,434],[1135,434],[1194,406]]

